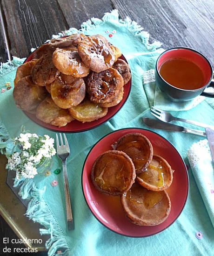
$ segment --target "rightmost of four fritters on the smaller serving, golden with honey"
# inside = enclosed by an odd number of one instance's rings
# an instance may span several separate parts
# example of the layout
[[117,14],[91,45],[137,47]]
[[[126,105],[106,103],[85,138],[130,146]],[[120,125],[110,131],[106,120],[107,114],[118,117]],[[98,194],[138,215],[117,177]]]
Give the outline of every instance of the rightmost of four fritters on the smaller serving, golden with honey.
[[172,184],[173,171],[163,157],[154,155],[146,171],[137,175],[136,181],[149,190],[162,191]]

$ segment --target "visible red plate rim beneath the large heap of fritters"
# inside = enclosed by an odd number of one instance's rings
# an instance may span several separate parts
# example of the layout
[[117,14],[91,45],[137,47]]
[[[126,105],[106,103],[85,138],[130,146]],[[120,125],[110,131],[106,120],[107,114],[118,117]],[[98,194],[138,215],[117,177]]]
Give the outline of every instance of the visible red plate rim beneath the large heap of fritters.
[[[35,54],[36,50],[29,56],[27,57],[27,59],[25,60],[25,62],[28,62],[30,60],[33,59],[33,55]],[[127,62],[126,58],[122,55],[120,57],[120,59],[123,59]],[[128,63],[128,62],[127,62]],[[74,120],[70,123],[68,123],[66,126],[64,127],[57,127],[54,125],[50,125],[47,123],[44,123],[43,121],[40,121],[39,119],[36,118],[35,114],[30,114],[27,112],[24,112],[32,121],[34,121],[35,123],[37,123],[38,125],[47,128],[48,130],[52,130],[55,132],[63,132],[63,133],[76,133],[76,132],[84,132],[90,129],[93,129],[101,124],[103,124],[104,122],[107,122],[110,118],[112,118],[119,110],[120,108],[125,104],[125,102],[128,99],[129,93],[131,91],[131,80],[129,80],[129,82],[124,85],[124,94],[123,94],[123,99],[122,101],[114,106],[114,107],[109,107],[108,108],[108,113],[106,116],[93,121],[93,122],[89,122],[89,123],[81,123],[77,120]]]

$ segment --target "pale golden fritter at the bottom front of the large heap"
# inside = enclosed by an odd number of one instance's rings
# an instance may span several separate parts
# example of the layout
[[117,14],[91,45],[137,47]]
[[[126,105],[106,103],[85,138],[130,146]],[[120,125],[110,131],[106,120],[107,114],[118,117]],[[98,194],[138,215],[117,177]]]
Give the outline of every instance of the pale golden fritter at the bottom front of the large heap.
[[97,103],[93,103],[88,99],[84,99],[79,105],[68,109],[69,113],[78,121],[92,122],[104,117],[108,109],[100,107]]

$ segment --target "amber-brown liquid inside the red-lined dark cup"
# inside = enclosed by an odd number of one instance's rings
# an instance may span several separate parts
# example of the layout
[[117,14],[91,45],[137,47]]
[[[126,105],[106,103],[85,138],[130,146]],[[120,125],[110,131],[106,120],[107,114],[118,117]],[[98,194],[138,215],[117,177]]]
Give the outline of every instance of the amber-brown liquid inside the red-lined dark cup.
[[159,72],[168,84],[184,90],[199,89],[205,83],[200,67],[184,58],[168,59]]

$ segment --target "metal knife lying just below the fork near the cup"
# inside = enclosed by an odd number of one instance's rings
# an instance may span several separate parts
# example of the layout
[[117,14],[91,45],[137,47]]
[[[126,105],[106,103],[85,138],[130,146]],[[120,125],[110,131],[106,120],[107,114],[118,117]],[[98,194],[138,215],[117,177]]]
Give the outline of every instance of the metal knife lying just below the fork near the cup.
[[185,127],[175,125],[175,124],[165,123],[163,121],[151,119],[148,117],[143,117],[143,122],[148,127],[155,128],[155,129],[161,129],[161,130],[166,130],[166,131],[171,131],[171,132],[190,133],[190,134],[201,135],[201,136],[206,137],[206,133],[203,131],[185,128]]

